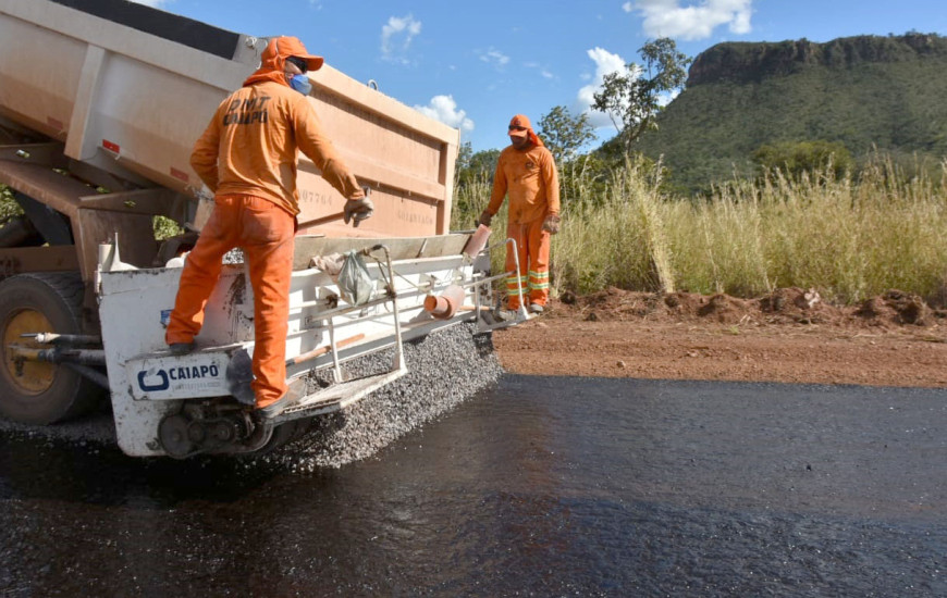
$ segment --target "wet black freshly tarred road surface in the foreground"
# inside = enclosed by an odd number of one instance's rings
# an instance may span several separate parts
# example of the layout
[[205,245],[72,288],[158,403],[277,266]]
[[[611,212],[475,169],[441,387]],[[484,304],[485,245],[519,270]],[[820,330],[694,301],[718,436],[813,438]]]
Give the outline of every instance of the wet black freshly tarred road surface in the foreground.
[[506,375],[291,461],[8,429],[0,596],[947,595],[947,390]]

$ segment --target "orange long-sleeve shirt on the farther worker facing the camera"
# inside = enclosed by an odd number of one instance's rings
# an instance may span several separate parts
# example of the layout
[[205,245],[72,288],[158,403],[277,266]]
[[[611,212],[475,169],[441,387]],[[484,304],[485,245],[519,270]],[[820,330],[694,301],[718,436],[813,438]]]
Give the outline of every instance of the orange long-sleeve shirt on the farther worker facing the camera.
[[527,224],[559,213],[559,180],[552,153],[542,146],[500,152],[493,175],[493,192],[487,211],[496,214],[509,196],[509,223]]

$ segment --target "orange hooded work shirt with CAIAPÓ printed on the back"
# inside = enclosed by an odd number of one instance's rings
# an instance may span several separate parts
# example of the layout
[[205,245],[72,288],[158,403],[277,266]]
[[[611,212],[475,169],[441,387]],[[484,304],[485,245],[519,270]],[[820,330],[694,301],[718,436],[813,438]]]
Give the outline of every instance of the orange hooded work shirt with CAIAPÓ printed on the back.
[[286,83],[288,55],[281,55],[279,46],[270,43],[260,68],[218,107],[194,146],[192,167],[217,195],[262,197],[296,215],[298,148],[345,198],[365,197],[308,99]]

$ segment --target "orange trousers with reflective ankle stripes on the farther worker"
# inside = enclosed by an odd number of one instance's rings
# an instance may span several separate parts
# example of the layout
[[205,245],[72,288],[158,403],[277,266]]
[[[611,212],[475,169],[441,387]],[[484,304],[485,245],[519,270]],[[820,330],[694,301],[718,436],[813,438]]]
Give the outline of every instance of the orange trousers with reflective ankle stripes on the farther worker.
[[[542,229],[545,219],[527,224],[507,223],[506,236],[516,240],[516,253],[506,247],[506,308],[519,309],[519,291],[528,303],[545,306],[549,302],[549,252],[552,236]],[[516,258],[519,257],[519,277],[516,276]]]

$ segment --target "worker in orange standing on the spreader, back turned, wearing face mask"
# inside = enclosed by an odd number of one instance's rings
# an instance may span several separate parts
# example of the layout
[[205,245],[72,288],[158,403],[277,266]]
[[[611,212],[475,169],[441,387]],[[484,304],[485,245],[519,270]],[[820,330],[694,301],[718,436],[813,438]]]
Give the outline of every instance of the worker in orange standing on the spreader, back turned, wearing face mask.
[[242,248],[254,289],[251,387],[262,419],[275,418],[295,399],[287,393],[285,357],[299,213],[296,150],[347,198],[346,224],[354,220],[357,226],[373,211],[306,99],[311,89],[306,72],[321,66],[322,58],[295,37],[271,39],[260,67],[221,102],[190,155],[194,171],[214,192],[214,208],[185,261],[164,340],[172,354],[194,350],[222,258]]

